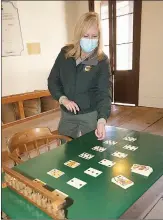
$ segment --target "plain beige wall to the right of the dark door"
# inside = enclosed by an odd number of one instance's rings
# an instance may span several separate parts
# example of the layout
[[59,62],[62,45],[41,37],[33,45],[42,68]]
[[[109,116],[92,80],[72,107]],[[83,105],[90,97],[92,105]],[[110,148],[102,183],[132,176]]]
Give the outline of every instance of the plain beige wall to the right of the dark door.
[[142,2],[139,105],[163,108],[163,1]]

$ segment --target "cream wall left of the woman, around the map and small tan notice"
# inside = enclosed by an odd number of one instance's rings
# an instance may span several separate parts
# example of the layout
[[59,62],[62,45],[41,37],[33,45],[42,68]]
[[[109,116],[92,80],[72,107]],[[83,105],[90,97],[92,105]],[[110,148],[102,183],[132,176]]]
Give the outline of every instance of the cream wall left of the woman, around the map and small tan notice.
[[[47,89],[47,77],[67,43],[64,1],[18,1],[25,51],[2,59],[2,96]],[[41,54],[28,55],[26,43],[40,42]]]

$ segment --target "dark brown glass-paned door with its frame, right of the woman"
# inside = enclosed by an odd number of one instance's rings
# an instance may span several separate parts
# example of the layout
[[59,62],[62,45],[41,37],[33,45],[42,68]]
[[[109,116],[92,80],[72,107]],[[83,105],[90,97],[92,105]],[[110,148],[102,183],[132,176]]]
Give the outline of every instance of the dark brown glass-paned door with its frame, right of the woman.
[[138,105],[141,1],[91,1],[113,74],[113,103]]

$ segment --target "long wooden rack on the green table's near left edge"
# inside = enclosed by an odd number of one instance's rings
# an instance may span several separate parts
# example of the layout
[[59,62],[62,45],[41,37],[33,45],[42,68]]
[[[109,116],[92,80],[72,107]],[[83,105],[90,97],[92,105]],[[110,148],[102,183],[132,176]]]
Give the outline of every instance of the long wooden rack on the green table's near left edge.
[[[73,200],[63,192],[48,189],[46,183],[29,179],[21,173],[3,166],[4,183],[25,200],[56,220],[66,220],[66,213]],[[11,202],[11,201],[9,201]],[[13,201],[14,202],[14,201]]]

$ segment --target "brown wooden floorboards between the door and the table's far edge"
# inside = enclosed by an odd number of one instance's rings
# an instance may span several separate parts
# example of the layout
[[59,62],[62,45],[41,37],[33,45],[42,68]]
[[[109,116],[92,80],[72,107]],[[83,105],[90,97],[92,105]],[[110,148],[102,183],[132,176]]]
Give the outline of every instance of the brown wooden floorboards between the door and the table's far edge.
[[163,109],[113,105],[107,124],[163,136]]

